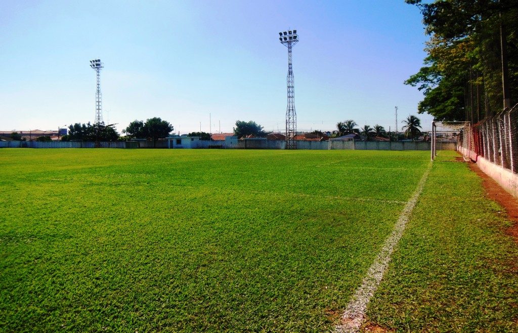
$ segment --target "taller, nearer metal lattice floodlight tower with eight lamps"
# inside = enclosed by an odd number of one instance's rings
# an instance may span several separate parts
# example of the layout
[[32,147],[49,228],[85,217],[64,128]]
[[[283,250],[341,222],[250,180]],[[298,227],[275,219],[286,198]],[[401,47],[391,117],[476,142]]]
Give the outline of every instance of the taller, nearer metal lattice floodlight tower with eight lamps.
[[298,43],[296,30],[279,33],[279,41],[288,48],[288,75],[286,78],[288,89],[288,105],[286,107],[286,149],[297,149],[295,136],[297,135],[297,113],[295,112],[295,91],[293,83],[292,48]]

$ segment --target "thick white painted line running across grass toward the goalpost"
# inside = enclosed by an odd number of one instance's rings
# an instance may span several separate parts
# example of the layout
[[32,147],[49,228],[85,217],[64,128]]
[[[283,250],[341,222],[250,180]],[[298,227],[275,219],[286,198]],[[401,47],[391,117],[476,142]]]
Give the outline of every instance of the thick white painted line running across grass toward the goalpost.
[[424,172],[423,177],[421,177],[421,180],[418,183],[418,187],[415,189],[412,197],[408,200],[407,205],[401,212],[401,215],[399,215],[392,234],[385,240],[383,248],[381,249],[380,253],[378,253],[374,263],[372,263],[369,270],[367,271],[367,276],[363,279],[362,285],[356,290],[352,300],[347,306],[346,311],[343,312],[341,323],[335,328],[336,333],[359,332],[359,329],[361,328],[365,318],[367,304],[380,285],[381,279],[383,279],[383,274],[385,273],[387,266],[389,266],[394,248],[396,247],[399,239],[403,234],[403,231],[405,230],[405,226],[408,222],[408,219],[410,218],[412,210],[415,207],[415,203],[421,195],[421,192],[423,192],[424,183],[428,178],[430,169],[431,163],[428,165],[428,168]]

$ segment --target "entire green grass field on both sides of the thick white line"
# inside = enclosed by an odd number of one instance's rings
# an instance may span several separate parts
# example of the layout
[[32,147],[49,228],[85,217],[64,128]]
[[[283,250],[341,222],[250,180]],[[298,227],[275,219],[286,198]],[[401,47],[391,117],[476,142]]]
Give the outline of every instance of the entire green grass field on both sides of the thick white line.
[[[412,151],[2,149],[0,330],[333,330],[428,164]],[[516,330],[518,251],[497,210],[465,164],[435,162],[369,320]]]

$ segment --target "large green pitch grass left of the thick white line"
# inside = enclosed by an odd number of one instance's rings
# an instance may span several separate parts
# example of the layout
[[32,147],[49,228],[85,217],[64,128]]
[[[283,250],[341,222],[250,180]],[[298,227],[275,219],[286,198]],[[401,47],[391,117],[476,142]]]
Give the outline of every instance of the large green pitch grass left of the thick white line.
[[330,330],[428,160],[2,149],[0,330]]

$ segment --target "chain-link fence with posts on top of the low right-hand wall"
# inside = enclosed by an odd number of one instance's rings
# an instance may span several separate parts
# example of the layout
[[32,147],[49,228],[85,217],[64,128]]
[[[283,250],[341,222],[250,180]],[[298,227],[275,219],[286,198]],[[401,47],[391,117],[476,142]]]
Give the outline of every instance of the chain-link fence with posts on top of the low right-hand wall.
[[518,104],[461,133],[465,151],[518,173]]

